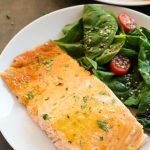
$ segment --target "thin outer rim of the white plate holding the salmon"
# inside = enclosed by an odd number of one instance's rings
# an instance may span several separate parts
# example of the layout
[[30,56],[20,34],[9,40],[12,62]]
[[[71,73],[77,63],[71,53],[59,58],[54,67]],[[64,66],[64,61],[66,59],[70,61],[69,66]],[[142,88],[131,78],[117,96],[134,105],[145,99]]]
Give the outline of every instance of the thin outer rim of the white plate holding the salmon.
[[[133,9],[130,9],[130,8],[125,8],[125,7],[120,7],[120,6],[113,6],[113,5],[108,5],[108,4],[93,4],[93,5],[99,5],[99,6],[104,6],[104,7],[117,7],[117,8],[120,8],[120,9],[123,9],[123,10],[126,10],[126,11],[130,11],[130,12],[133,12],[133,13],[136,13],[137,15],[142,15],[144,16],[145,18],[149,19],[150,20],[150,16],[142,13],[142,12],[139,12],[139,11],[136,11],[136,10],[133,10]],[[57,13],[63,13],[64,11],[67,11],[67,10],[70,10],[70,9],[75,9],[75,8],[80,8],[80,7],[83,7],[84,4],[81,4],[81,5],[75,5],[75,6],[69,6],[69,7],[64,7],[64,8],[61,8],[61,9],[57,9],[55,11],[52,11],[44,16],[41,16],[33,21],[31,21],[30,23],[28,23],[26,26],[24,26],[21,30],[19,30],[10,40],[9,42],[6,44],[6,46],[4,47],[2,53],[0,54],[0,60],[1,58],[3,57],[3,55],[5,54],[5,51],[6,49],[9,47],[9,45],[16,39],[16,37],[19,36],[19,34],[21,34],[22,32],[24,32],[27,28],[29,28],[30,26],[32,26],[33,24],[35,24],[36,22],[39,22],[42,18],[46,18],[47,16],[51,16],[51,15],[55,15]],[[5,116],[7,117],[7,116]],[[4,118],[5,118],[4,117]],[[2,118],[3,119],[3,118]],[[1,122],[1,120],[0,120]],[[7,141],[7,143],[14,149],[14,150],[17,150],[15,148],[15,146],[10,142],[9,138],[6,137],[5,133],[3,132],[3,128],[1,128],[0,126],[0,132],[1,134],[3,135],[4,139]]]

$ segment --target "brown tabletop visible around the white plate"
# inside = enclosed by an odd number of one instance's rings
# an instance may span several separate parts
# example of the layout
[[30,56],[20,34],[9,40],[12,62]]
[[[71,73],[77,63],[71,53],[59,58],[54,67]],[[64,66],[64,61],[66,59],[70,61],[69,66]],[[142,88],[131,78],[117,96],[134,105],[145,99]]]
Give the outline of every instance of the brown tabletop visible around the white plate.
[[[64,7],[87,3],[96,2],[92,0],[0,0],[0,53],[19,30],[43,14]],[[150,5],[128,8],[150,16]],[[13,150],[1,133],[0,150]]]

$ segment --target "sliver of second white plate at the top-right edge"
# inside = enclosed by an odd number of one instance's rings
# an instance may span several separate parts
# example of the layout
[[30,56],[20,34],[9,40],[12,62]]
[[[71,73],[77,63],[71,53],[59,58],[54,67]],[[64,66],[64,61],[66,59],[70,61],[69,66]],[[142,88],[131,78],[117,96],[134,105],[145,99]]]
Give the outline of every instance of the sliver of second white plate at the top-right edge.
[[150,0],[95,0],[95,1],[123,6],[150,5]]

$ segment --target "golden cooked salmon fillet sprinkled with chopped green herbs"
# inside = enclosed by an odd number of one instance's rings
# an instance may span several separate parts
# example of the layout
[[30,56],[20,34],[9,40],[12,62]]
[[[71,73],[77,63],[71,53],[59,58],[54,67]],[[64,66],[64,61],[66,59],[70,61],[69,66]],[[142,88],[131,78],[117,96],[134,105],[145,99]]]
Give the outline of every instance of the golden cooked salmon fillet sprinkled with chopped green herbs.
[[58,150],[136,150],[144,141],[113,92],[51,41],[15,57],[1,77]]

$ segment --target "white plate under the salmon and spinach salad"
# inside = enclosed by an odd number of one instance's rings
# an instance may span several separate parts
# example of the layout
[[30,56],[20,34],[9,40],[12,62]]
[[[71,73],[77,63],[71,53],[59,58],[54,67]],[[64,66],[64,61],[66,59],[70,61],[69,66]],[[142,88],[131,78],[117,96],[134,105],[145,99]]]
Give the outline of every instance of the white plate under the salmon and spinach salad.
[[[116,14],[127,12],[137,24],[150,28],[150,17],[139,12],[103,5]],[[21,30],[6,46],[0,56],[0,72],[9,67],[12,59],[21,52],[49,40],[56,39],[64,25],[81,17],[83,6],[61,9],[43,16]],[[54,150],[46,134],[30,119],[24,106],[0,79],[0,130],[15,150]],[[142,150],[148,150],[145,146]]]

